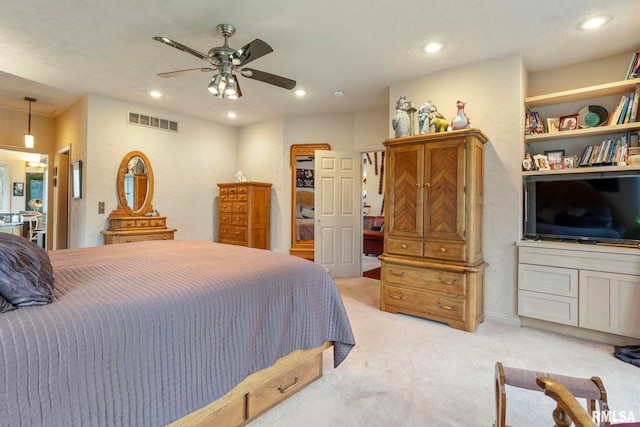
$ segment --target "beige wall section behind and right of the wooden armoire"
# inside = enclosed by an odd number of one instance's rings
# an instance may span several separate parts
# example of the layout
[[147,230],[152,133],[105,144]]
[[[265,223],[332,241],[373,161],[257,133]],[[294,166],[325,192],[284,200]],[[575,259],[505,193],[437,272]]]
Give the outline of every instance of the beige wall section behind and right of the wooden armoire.
[[487,315],[518,322],[516,304],[517,257],[520,238],[522,185],[522,62],[519,55],[484,61],[391,85],[387,126],[397,99],[404,95],[419,108],[431,100],[451,119],[456,100],[465,108],[474,127],[490,142],[485,146],[484,259]]

